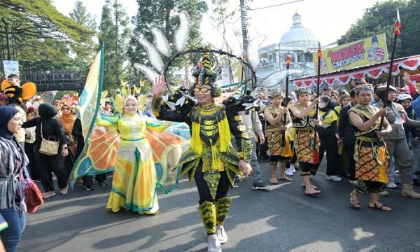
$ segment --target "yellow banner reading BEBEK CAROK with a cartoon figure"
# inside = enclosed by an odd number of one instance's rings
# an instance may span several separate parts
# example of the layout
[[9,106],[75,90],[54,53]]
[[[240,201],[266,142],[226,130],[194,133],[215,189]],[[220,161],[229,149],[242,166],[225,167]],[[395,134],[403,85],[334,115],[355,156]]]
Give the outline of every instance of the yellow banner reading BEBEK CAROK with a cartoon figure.
[[[315,73],[318,73],[318,58],[314,53]],[[352,69],[388,61],[385,34],[360,39],[335,48],[322,50],[321,74]]]

